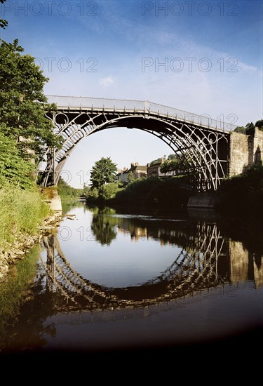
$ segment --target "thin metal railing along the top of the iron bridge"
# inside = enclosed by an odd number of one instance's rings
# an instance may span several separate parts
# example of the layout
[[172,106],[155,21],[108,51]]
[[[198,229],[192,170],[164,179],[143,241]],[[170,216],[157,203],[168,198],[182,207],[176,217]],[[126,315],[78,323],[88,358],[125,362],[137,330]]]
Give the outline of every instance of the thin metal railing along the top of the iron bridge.
[[197,115],[173,107],[159,105],[148,100],[123,100],[123,99],[105,99],[88,98],[75,96],[46,95],[49,103],[56,103],[58,108],[71,109],[74,107],[81,109],[98,110],[117,110],[127,112],[152,112],[162,116],[180,119],[181,121],[217,128],[225,131],[233,131],[236,125],[227,122],[212,119],[208,114]]

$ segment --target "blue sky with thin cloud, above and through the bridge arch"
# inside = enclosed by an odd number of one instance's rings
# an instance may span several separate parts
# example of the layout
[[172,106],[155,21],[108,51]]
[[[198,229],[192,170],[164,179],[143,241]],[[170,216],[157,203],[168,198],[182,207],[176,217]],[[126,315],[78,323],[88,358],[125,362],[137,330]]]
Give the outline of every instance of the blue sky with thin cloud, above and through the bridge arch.
[[[14,1],[0,37],[18,39],[48,77],[46,95],[149,100],[245,126],[263,118],[262,1]],[[172,150],[111,128],[81,140],[62,171],[73,187],[95,161],[145,165]]]

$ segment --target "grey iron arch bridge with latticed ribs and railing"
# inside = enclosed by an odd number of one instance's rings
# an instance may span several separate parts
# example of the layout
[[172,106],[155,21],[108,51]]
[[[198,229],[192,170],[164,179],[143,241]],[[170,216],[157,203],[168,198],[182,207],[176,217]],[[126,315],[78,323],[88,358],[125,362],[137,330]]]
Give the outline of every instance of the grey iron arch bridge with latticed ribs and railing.
[[58,106],[46,117],[62,136],[61,149],[46,149],[41,186],[57,185],[67,157],[88,135],[106,128],[138,128],[160,138],[182,159],[196,189],[217,189],[228,173],[229,134],[235,126],[179,109],[142,100],[48,95]]

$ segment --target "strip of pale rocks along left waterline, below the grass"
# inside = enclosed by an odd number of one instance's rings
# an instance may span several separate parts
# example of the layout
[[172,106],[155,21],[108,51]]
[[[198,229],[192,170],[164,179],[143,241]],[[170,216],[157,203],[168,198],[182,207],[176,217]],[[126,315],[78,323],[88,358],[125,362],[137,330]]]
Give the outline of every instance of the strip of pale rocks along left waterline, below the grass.
[[38,234],[18,233],[13,243],[6,243],[4,248],[0,248],[0,282],[6,277],[9,267],[24,258],[33,246],[39,244],[44,234],[54,232],[60,225],[62,217],[61,212],[55,212],[43,220]]

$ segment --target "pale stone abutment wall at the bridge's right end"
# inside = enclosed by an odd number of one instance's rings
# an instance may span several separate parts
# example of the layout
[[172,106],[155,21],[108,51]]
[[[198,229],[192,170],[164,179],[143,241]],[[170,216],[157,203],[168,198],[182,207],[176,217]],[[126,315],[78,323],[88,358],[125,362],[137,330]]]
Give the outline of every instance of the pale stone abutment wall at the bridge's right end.
[[245,168],[262,161],[263,131],[255,128],[254,135],[235,133],[230,135],[229,177],[243,173]]

